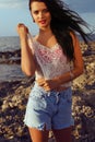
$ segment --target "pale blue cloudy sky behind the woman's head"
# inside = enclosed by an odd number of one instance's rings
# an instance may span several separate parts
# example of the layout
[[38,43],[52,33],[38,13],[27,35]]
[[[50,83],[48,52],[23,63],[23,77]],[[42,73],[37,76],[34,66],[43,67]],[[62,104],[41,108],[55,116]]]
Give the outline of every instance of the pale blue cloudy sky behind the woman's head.
[[[76,11],[93,28],[95,26],[95,0],[63,0]],[[25,23],[33,35],[37,26],[28,10],[28,0],[0,0],[0,36],[15,36],[17,23]]]

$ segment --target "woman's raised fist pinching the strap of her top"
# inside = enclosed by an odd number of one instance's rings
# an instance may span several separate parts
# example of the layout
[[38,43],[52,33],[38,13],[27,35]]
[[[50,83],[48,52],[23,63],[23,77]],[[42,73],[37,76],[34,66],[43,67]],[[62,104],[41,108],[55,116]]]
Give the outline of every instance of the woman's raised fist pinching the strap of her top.
[[17,34],[20,35],[20,38],[27,37],[28,28],[23,23],[17,24],[16,31],[17,31]]

